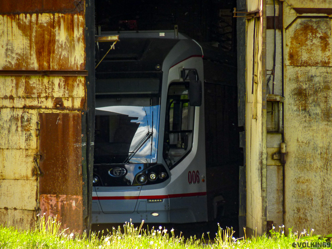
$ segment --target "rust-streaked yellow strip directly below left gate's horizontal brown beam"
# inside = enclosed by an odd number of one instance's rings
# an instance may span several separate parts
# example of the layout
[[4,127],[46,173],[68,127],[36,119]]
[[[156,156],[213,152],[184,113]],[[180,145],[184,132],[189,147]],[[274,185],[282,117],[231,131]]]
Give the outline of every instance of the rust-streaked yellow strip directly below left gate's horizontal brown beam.
[[84,109],[83,76],[2,76],[0,107]]

